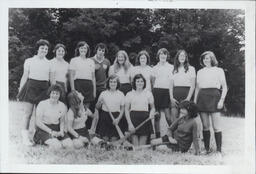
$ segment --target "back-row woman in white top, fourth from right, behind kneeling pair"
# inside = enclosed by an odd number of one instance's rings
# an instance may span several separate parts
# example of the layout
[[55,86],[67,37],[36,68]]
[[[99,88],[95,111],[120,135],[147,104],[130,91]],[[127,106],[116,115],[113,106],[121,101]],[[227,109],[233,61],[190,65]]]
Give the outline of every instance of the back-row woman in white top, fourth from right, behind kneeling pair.
[[142,74],[146,79],[146,90],[151,91],[153,75],[152,68],[150,67],[150,57],[146,50],[142,50],[138,53],[135,61],[135,67],[132,69],[132,79],[136,74]]

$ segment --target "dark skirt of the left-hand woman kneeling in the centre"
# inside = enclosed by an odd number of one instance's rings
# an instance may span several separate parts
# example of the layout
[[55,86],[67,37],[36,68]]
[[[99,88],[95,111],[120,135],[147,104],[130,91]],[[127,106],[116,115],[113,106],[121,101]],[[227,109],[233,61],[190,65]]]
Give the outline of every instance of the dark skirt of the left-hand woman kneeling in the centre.
[[[119,112],[112,112],[114,118],[119,116]],[[101,138],[103,137],[119,137],[113,121],[108,112],[99,110],[99,122],[97,125],[97,132]]]

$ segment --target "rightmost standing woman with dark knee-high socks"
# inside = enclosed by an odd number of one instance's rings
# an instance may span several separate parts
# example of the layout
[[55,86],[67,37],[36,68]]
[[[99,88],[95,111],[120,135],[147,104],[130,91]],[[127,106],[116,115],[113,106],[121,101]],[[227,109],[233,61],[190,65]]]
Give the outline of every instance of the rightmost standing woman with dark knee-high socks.
[[210,153],[210,119],[212,122],[217,152],[221,152],[222,132],[221,114],[224,100],[227,94],[225,73],[217,67],[218,61],[211,51],[206,51],[200,56],[200,64],[203,66],[197,73],[195,90],[195,102],[198,105],[203,124],[203,140],[206,153]]

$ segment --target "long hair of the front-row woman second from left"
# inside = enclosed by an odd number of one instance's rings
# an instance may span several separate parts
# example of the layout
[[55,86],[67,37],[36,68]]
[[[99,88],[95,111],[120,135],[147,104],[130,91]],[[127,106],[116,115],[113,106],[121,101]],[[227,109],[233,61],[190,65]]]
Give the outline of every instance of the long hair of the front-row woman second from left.
[[74,113],[74,118],[77,118],[78,117],[79,106],[81,104],[81,100],[78,97],[78,94],[76,93],[76,91],[71,91],[68,94],[67,99],[68,99],[69,108]]

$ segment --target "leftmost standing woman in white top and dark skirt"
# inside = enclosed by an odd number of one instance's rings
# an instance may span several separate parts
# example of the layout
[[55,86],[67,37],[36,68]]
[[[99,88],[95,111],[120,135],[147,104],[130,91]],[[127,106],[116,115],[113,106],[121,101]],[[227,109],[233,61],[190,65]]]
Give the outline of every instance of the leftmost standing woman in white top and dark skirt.
[[22,143],[32,145],[29,139],[29,123],[34,106],[40,101],[42,94],[45,94],[49,87],[50,64],[46,58],[49,49],[49,42],[40,39],[36,43],[36,55],[28,58],[24,63],[24,71],[20,81],[19,94],[17,99],[23,103],[25,118],[22,123]]

